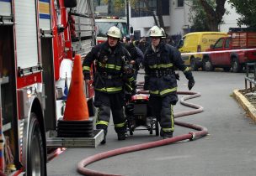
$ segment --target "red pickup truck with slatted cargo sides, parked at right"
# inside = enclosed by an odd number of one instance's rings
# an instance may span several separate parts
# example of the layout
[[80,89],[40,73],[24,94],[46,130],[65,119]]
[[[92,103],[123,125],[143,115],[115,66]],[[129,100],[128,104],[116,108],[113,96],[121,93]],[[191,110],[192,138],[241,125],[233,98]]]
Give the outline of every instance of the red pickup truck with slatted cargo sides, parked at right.
[[216,67],[232,72],[243,70],[245,63],[256,62],[256,32],[232,32],[206,49],[211,53],[203,55],[203,70]]

